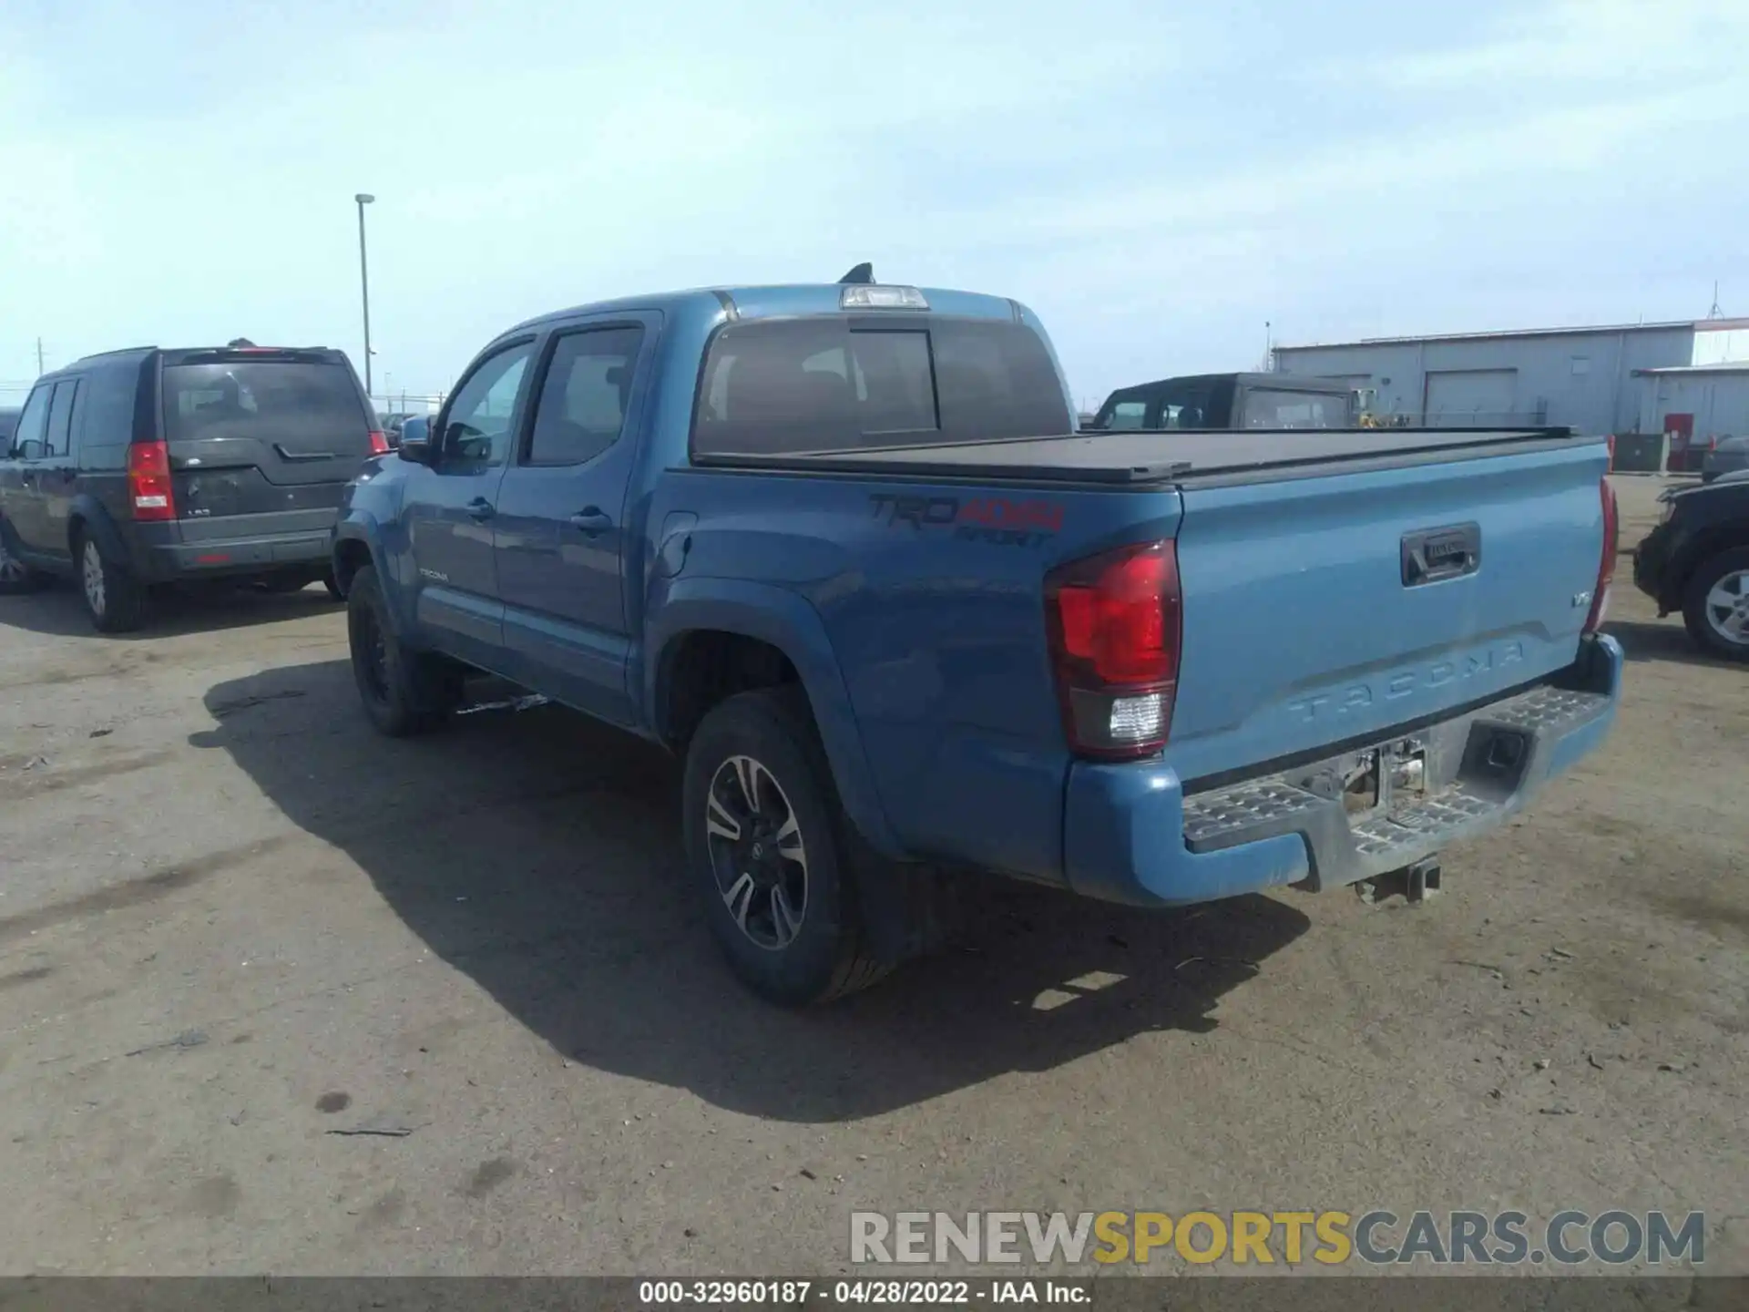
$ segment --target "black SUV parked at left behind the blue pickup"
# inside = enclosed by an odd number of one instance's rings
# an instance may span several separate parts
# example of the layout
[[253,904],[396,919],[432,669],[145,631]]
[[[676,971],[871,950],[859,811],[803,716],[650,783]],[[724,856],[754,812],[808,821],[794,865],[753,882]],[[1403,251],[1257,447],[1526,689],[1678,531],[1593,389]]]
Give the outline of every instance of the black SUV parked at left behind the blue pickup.
[[374,418],[320,346],[143,346],[44,374],[0,458],[0,591],[77,577],[119,633],[150,584],[332,588],[341,490],[388,450]]

